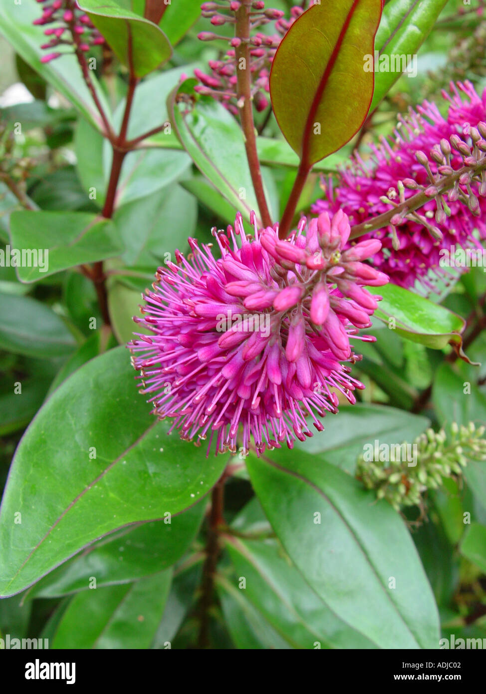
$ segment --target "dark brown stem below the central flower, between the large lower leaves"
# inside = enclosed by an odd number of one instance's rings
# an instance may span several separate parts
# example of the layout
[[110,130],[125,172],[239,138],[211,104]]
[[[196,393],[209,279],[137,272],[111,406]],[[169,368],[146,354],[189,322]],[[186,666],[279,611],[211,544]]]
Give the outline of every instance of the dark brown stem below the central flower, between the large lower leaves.
[[209,647],[209,610],[214,598],[214,574],[220,554],[219,534],[225,525],[223,506],[225,499],[225,473],[216,482],[211,493],[211,507],[208,514],[206,559],[202,567],[201,597],[198,605],[200,628],[197,647]]

